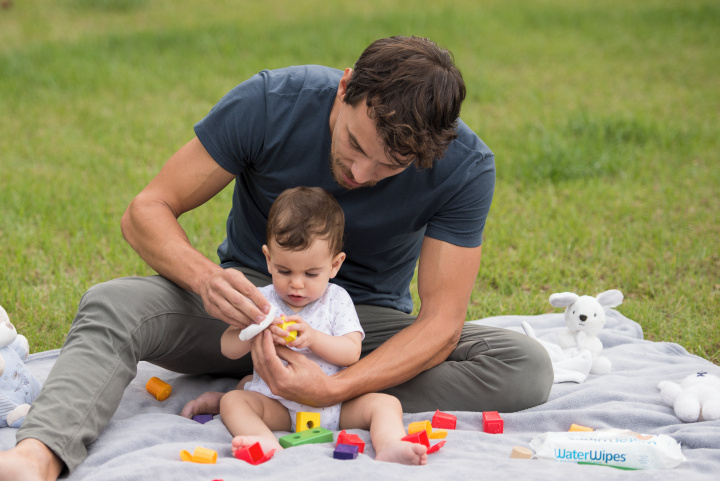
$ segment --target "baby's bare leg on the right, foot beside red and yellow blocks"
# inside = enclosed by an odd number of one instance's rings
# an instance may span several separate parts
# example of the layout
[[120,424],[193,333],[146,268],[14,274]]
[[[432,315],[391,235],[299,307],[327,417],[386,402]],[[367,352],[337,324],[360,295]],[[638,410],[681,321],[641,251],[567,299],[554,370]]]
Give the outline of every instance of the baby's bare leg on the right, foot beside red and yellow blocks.
[[342,429],[370,429],[377,461],[400,464],[427,464],[427,448],[402,441],[405,427],[400,401],[387,394],[364,394],[346,401],[340,411]]

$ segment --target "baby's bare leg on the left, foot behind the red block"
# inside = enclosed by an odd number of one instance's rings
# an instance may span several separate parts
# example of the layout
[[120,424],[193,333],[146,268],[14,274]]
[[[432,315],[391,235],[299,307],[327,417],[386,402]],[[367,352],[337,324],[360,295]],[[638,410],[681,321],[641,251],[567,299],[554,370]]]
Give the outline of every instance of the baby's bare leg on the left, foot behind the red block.
[[273,431],[289,431],[290,415],[275,399],[251,391],[230,391],[220,401],[220,417],[238,448],[260,442],[263,451],[282,449]]

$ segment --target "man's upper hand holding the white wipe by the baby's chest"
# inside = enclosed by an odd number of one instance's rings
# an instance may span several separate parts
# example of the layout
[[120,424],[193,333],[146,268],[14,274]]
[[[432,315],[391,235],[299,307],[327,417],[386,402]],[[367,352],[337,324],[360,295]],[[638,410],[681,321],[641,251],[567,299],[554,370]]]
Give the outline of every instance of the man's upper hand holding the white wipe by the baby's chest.
[[219,268],[199,285],[205,310],[213,317],[241,329],[262,321],[270,303],[242,272]]

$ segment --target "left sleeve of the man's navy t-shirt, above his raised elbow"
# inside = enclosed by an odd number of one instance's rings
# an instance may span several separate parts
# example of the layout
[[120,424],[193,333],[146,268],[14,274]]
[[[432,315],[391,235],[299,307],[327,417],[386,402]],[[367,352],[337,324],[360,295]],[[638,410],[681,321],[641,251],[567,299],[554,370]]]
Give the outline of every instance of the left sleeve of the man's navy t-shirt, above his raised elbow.
[[195,124],[195,135],[222,168],[238,175],[262,153],[266,76],[260,72],[228,92]]

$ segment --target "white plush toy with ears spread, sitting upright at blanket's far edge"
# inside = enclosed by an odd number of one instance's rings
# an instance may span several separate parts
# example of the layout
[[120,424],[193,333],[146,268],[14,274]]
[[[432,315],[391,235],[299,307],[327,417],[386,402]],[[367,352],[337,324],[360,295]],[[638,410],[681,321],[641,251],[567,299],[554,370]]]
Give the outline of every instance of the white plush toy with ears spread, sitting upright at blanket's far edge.
[[591,374],[608,374],[612,368],[610,359],[601,355],[603,345],[597,334],[605,325],[605,309],[622,304],[622,292],[611,289],[597,297],[578,296],[561,292],[550,296],[550,304],[565,308],[567,330],[560,332],[558,344],[562,349],[577,347],[590,351],[593,357]]

